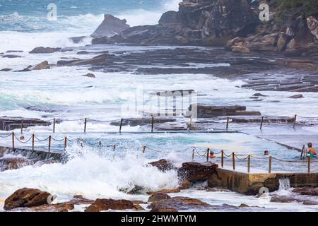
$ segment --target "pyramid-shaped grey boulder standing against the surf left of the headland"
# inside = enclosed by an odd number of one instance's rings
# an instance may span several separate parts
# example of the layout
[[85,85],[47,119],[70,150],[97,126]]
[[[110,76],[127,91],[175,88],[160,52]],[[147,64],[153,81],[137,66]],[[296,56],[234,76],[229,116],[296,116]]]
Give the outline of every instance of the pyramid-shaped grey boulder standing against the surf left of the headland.
[[129,25],[126,24],[127,21],[120,20],[117,17],[114,17],[110,14],[105,14],[104,20],[98,26],[98,28],[91,35],[92,37],[112,37],[114,35],[120,34],[123,30],[130,28]]

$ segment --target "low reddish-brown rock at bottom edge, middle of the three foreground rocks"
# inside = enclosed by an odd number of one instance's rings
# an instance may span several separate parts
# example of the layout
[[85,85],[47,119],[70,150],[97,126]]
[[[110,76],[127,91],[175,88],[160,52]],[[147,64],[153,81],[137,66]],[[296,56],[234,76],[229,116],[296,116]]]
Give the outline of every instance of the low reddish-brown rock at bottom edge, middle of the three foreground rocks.
[[86,208],[86,212],[100,212],[104,210],[131,210],[134,208],[134,203],[128,200],[114,199],[96,199],[95,202]]

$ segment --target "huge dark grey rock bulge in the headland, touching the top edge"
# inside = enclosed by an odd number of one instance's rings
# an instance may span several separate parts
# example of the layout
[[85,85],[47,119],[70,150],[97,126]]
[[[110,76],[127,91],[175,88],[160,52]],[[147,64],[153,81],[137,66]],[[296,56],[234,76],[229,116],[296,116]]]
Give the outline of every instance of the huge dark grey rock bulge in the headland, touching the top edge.
[[202,29],[205,44],[224,45],[233,37],[252,33],[257,18],[247,0],[218,0]]

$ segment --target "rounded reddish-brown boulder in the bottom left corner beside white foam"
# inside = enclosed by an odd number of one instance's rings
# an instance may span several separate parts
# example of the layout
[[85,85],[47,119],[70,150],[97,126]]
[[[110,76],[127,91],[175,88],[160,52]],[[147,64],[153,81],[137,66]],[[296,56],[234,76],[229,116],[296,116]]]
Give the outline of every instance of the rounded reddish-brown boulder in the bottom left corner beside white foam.
[[4,201],[4,209],[11,210],[18,207],[33,207],[47,204],[51,194],[39,189],[19,189]]

